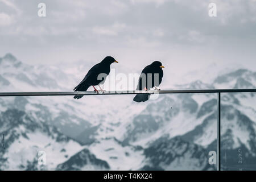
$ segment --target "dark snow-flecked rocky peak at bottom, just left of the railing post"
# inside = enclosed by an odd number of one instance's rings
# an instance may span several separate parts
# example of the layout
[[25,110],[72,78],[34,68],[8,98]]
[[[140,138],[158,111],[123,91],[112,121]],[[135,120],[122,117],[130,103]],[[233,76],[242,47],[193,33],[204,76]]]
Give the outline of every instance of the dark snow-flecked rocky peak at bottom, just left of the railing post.
[[[144,150],[147,165],[142,169],[171,169],[180,168],[210,169],[207,151],[203,147],[185,142],[180,137],[160,138]],[[186,162],[189,160],[189,163]],[[176,165],[172,164],[175,163]],[[177,167],[179,166],[179,167]]]

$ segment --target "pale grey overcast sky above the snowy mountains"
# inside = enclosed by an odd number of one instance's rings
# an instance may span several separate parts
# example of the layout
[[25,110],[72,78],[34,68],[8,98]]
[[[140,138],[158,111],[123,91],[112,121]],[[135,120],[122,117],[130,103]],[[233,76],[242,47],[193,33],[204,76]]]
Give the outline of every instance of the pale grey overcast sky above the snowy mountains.
[[[210,2],[217,17],[208,15]],[[255,0],[0,0],[0,56],[29,64],[109,55],[136,70],[153,60],[174,73],[211,63],[254,69],[255,32]]]

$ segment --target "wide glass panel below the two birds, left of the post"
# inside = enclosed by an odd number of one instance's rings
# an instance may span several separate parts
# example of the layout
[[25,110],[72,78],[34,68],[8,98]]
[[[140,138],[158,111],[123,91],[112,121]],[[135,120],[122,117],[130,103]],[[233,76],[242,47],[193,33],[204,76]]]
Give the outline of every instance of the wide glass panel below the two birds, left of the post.
[[0,169],[216,169],[216,94],[133,97],[0,97]]

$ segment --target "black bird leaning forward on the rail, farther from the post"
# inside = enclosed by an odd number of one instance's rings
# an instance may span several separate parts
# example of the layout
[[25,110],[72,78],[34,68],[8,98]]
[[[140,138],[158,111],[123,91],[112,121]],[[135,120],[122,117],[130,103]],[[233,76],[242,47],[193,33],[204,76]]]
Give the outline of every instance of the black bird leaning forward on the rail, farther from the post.
[[[92,68],[90,68],[88,73],[85,75],[84,79],[73,90],[75,92],[86,91],[90,86],[93,86],[94,91],[98,93],[98,90],[94,86],[100,86],[100,84],[104,84],[104,82],[106,81],[106,77],[109,75],[110,72],[110,64],[112,63],[118,63],[118,61],[116,61],[111,56],[105,57],[104,60],[101,61],[101,63],[98,63],[94,65]],[[104,74],[100,75],[101,73]],[[98,80],[99,75],[101,79]],[[100,89],[102,92],[104,92],[101,86]],[[74,98],[79,99],[82,98],[82,96],[75,96]]]

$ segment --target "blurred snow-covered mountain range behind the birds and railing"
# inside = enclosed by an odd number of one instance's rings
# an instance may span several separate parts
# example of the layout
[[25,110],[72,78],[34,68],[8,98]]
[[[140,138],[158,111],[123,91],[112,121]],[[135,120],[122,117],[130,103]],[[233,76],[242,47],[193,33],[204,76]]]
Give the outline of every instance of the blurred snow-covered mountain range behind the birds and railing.
[[[0,92],[70,91],[93,64],[86,63],[34,66],[9,53],[0,58]],[[256,72],[247,69],[215,73],[209,82],[196,80],[174,89],[256,86]],[[145,103],[135,103],[133,97],[0,97],[5,146],[0,147],[0,169],[216,168],[208,163],[209,151],[217,150],[216,94],[161,94]],[[224,169],[255,169],[255,101],[254,93],[222,94]],[[46,166],[38,164],[40,150],[46,152]]]

